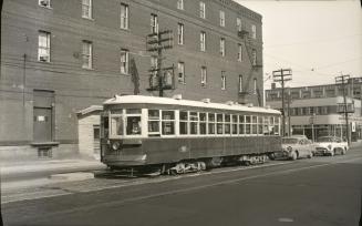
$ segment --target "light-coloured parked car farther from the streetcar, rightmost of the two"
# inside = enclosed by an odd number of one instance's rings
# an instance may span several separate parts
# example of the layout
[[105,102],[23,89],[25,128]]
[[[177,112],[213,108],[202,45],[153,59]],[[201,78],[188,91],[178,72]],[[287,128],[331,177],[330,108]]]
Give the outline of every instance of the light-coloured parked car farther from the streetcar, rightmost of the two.
[[333,156],[337,153],[344,155],[349,150],[348,142],[337,136],[321,136],[317,140],[314,145],[316,155],[330,155]]

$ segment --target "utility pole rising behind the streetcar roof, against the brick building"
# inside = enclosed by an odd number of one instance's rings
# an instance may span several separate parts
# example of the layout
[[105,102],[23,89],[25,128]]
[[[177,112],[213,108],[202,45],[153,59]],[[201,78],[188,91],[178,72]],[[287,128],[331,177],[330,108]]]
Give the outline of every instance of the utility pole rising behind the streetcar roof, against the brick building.
[[[164,35],[167,35],[166,38]],[[157,59],[157,65],[156,68],[152,68],[149,70],[151,79],[149,79],[149,88],[147,91],[157,91],[158,95],[164,96],[164,90],[172,90],[174,89],[173,84],[167,84],[165,75],[169,74],[167,71],[172,71],[172,76],[174,76],[174,65],[168,68],[163,68],[163,51],[166,49],[173,48],[173,31],[172,30],[165,30],[165,31],[158,31],[154,32],[147,35],[147,51],[148,52],[156,52],[156,59]],[[157,78],[157,84],[154,84],[153,76],[154,72],[156,72]],[[173,79],[174,80],[174,79]]]

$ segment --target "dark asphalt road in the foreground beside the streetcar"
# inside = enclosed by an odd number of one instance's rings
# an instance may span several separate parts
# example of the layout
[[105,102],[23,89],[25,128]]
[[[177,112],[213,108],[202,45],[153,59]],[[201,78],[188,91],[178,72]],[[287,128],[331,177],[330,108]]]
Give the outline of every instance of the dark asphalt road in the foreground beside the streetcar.
[[353,226],[361,215],[362,148],[261,167],[95,178],[28,192],[2,204],[6,225]]

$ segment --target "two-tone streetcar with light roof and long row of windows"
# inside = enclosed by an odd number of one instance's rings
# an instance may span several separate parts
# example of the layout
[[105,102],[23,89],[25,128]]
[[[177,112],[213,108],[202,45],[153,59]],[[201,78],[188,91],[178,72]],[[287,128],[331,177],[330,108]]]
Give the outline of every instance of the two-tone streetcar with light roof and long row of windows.
[[281,150],[280,112],[235,102],[115,95],[101,113],[111,170],[180,174],[265,162]]

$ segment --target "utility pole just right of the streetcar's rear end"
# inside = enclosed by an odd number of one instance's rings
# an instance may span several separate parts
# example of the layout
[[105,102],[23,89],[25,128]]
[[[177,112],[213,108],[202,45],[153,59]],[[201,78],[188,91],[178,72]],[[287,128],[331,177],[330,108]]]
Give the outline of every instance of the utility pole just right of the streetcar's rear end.
[[275,82],[281,83],[281,121],[282,121],[282,136],[286,135],[286,111],[285,111],[285,83],[291,80],[291,69],[280,69],[272,71],[272,78]]

